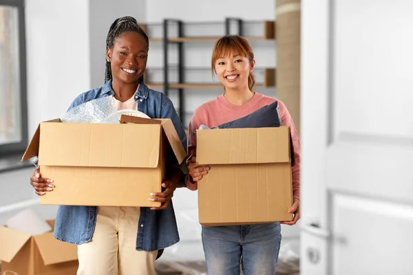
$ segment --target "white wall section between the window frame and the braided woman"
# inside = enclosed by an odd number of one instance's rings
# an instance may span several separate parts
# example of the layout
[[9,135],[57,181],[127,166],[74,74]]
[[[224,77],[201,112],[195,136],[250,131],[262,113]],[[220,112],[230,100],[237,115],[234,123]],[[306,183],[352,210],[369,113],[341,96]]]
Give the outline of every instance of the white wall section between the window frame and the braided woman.
[[29,138],[90,88],[89,2],[25,2]]

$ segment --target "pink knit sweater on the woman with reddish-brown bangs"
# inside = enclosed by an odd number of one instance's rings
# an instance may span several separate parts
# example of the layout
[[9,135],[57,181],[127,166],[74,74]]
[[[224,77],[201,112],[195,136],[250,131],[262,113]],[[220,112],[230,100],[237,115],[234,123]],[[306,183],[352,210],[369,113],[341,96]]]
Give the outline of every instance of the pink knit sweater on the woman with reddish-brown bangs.
[[[224,95],[218,96],[205,104],[202,104],[193,113],[191,122],[189,122],[189,139],[188,139],[188,162],[192,157],[196,157],[196,137],[193,135],[200,125],[204,124],[209,128],[242,118],[258,109],[275,102],[277,99],[255,93],[253,98],[246,104],[238,106],[231,104],[226,100]],[[293,118],[286,108],[286,105],[278,101],[279,116],[281,124],[290,126],[293,137],[295,166],[293,166],[293,197],[299,199],[299,152],[300,142],[295,129]],[[198,183],[193,183],[188,179],[187,187],[191,190],[198,189]]]

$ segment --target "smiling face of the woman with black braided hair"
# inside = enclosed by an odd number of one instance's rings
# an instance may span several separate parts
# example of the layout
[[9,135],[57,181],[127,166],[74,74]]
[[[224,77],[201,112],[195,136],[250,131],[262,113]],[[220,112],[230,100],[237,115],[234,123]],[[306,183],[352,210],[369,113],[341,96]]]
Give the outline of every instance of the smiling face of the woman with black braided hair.
[[148,45],[137,32],[124,32],[107,49],[106,58],[110,61],[112,78],[116,82],[137,83],[145,72]]

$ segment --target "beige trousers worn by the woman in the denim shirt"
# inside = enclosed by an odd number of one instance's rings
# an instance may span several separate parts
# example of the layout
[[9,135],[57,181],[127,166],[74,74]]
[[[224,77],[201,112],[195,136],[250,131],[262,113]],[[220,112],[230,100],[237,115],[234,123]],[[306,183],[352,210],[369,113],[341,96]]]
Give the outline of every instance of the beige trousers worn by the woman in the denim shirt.
[[78,275],[153,275],[158,252],[136,250],[140,208],[99,206],[92,241],[78,245]]

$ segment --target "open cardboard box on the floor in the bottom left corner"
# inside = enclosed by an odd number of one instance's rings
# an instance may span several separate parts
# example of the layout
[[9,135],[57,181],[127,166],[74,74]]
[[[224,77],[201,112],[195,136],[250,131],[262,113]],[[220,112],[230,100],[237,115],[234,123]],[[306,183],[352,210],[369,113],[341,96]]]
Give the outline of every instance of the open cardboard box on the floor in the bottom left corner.
[[[54,228],[54,221],[47,221]],[[77,246],[53,238],[53,232],[30,234],[0,227],[1,274],[75,275]]]

